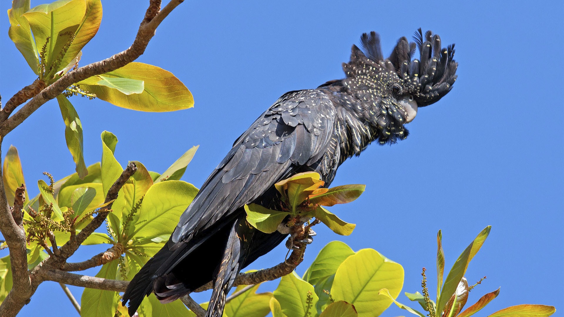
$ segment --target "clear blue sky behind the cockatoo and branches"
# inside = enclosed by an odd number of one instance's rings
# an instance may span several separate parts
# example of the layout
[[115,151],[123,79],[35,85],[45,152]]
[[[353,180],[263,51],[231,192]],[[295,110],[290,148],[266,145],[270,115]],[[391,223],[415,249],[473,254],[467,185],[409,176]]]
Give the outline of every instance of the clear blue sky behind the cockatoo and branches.
[[[146,1],[102,3],[102,25],[83,49],[81,65],[125,50],[146,9]],[[10,3],[0,6],[6,12]],[[561,1],[186,1],[158,28],[138,61],[173,72],[192,91],[195,107],[143,113],[73,97],[86,165],[102,156],[103,130],[117,135],[122,165],[138,160],[155,171],[200,144],[183,177],[200,187],[233,140],[280,95],[342,78],[341,63],[360,34],[380,33],[386,55],[399,37],[430,29],[444,45],[456,43],[459,78],[453,90],[420,109],[406,140],[373,144],[341,166],[333,185],[362,183],[367,191],[332,210],[358,225],[348,237],[316,227],[318,236],[298,274],[325,244],[342,240],[354,250],[374,248],[402,264],[403,291],[421,292],[421,267],[435,280],[439,229],[450,268],[491,224],[490,237],[466,273],[472,283],[487,279],[469,302],[501,287],[483,314],[542,303],[557,307],[554,316],[564,316],[563,14]],[[7,15],[0,19],[0,94],[6,102],[35,77],[7,36]],[[55,101],[5,138],[2,157],[10,144],[18,148],[30,184],[43,171],[56,179],[74,171]],[[28,188],[30,196],[37,194],[34,186]],[[73,259],[103,249],[81,248]],[[249,268],[271,267],[285,253],[281,245]],[[80,298],[82,289],[71,289]],[[194,297],[207,301],[209,293]],[[398,300],[408,302],[403,294]],[[76,315],[54,282],[41,284],[21,315],[39,311]],[[391,307],[382,316],[406,313]]]

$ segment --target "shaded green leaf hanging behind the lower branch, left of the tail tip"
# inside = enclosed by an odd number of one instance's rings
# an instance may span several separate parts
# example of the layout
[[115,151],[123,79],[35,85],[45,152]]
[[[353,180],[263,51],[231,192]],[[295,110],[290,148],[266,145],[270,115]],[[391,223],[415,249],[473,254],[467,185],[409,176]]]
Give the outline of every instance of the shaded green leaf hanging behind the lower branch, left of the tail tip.
[[[96,278],[116,279],[117,265],[120,261],[105,263]],[[82,317],[108,317],[113,316],[117,309],[117,292],[109,290],[85,288],[81,297]]]

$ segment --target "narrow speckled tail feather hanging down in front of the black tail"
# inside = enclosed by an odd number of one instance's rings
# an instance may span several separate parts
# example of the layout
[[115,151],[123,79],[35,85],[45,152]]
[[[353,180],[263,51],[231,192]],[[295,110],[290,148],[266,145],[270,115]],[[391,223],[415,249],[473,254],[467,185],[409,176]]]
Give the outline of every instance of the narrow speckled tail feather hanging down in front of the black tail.
[[[243,221],[245,221],[244,218]],[[217,278],[214,280],[213,292],[211,293],[206,317],[221,317],[223,315],[225,298],[233,285],[233,281],[235,281],[237,274],[239,274],[241,270],[241,241],[236,232],[237,227],[239,227],[239,222],[240,221],[236,221],[233,223],[233,227],[231,228],[221,265],[219,265],[217,272]]]

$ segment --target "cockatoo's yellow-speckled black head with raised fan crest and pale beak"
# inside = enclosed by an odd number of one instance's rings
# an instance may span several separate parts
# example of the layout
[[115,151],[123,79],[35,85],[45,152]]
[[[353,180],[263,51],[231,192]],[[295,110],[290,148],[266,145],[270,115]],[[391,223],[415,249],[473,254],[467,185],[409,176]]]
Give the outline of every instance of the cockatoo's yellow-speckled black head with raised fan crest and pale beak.
[[[349,63],[343,63],[347,76],[343,85],[364,101],[371,121],[384,130],[380,143],[406,138],[403,124],[415,118],[418,108],[446,95],[456,81],[454,45],[442,48],[437,34],[427,31],[424,35],[421,29],[413,39],[410,43],[400,38],[384,58],[378,34],[364,33],[360,37],[364,52],[353,45]],[[413,59],[416,49],[419,58]]]

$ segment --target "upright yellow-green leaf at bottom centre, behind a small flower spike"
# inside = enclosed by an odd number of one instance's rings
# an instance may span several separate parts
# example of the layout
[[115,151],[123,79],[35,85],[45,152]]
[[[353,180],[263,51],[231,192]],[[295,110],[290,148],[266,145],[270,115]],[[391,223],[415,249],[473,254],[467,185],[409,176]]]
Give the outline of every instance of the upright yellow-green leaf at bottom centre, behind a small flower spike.
[[[307,308],[307,294],[311,292],[311,307]],[[282,276],[280,284],[274,290],[274,298],[280,302],[282,312],[287,316],[304,316],[306,311],[315,311],[318,296],[315,294],[313,285],[299,278],[295,271]]]

